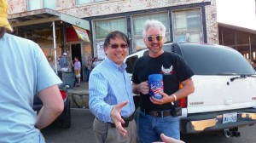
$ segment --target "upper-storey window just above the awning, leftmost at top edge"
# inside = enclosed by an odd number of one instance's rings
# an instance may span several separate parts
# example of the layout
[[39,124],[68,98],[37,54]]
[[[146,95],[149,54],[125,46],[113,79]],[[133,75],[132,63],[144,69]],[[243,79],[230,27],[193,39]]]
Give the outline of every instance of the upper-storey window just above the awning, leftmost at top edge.
[[36,9],[56,9],[56,1],[49,0],[27,0],[27,10],[36,10]]

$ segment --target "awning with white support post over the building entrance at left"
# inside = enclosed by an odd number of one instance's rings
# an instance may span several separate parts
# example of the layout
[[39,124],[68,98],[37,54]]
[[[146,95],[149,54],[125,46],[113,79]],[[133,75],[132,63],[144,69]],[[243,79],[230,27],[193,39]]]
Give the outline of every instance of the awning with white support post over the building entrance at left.
[[[24,31],[42,31],[52,29],[54,49],[55,49],[55,72],[57,73],[57,54],[55,27],[77,26],[79,29],[90,31],[90,23],[87,20],[80,19],[68,14],[63,14],[52,9],[38,9],[28,12],[9,14],[11,26],[17,27],[19,32]],[[87,35],[88,36],[88,35]]]

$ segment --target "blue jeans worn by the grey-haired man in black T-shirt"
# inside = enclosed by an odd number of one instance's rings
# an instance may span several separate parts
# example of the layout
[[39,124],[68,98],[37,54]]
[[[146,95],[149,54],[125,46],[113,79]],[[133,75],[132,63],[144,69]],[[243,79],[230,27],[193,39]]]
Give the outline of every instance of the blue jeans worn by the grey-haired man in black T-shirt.
[[160,134],[164,133],[174,139],[180,140],[178,117],[152,117],[143,112],[137,115],[137,134],[140,143],[162,141]]

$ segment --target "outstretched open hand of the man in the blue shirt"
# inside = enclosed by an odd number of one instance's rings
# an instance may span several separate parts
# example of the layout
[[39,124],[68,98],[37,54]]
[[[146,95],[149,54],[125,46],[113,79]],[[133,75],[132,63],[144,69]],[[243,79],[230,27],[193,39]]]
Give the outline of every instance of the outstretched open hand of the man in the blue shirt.
[[125,123],[125,121],[122,119],[120,112],[121,109],[126,106],[128,101],[119,103],[115,106],[113,106],[113,109],[110,113],[110,116],[112,118],[113,123],[115,124],[116,129],[119,130],[119,133],[125,136],[127,134],[127,131],[123,128],[122,123]]

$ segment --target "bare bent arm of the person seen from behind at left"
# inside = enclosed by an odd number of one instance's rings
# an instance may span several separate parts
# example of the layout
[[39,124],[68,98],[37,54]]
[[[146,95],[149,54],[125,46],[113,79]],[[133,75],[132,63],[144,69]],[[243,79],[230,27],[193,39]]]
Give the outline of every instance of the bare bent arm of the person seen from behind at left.
[[38,120],[35,126],[38,129],[43,129],[61,114],[64,109],[64,104],[57,85],[39,91],[38,97],[42,100],[44,106],[38,113]]

